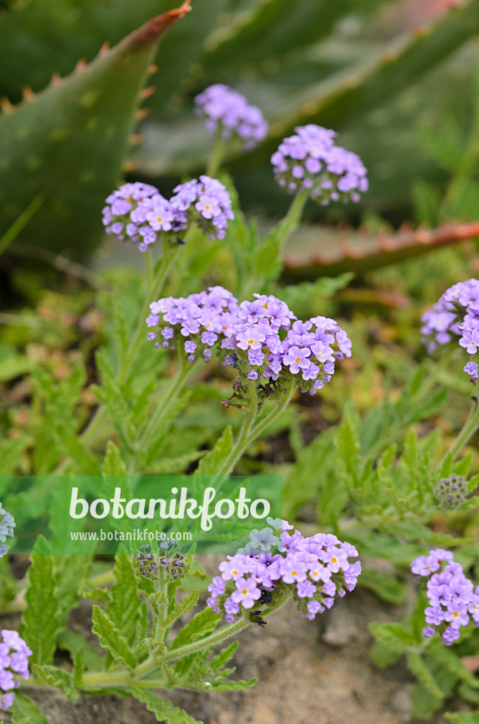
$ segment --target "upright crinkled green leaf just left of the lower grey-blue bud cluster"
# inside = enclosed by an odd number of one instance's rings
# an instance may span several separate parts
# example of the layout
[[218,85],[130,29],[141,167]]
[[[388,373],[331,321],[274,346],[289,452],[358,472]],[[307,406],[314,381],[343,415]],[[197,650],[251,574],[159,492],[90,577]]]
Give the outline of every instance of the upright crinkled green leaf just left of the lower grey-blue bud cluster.
[[140,598],[129,555],[115,556],[113,575],[115,582],[111,586],[111,599],[106,605],[106,615],[131,645],[135,641]]

